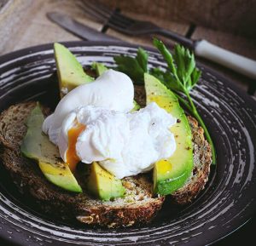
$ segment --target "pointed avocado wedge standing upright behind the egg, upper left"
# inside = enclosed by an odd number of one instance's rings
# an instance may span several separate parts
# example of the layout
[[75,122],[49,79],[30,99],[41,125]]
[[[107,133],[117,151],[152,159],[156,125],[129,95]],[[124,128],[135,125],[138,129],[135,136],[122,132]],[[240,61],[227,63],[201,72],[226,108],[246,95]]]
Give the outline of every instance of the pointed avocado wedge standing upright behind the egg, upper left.
[[77,86],[94,80],[84,72],[76,57],[61,43],[54,44],[61,96]]

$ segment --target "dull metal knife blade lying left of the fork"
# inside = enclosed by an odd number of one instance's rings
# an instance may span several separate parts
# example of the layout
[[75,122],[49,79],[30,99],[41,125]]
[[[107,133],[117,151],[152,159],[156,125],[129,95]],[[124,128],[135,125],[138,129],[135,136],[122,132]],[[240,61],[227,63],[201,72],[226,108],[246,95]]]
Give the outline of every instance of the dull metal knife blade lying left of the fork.
[[77,20],[67,16],[67,14],[61,14],[57,12],[50,12],[46,14],[49,20],[55,22],[67,31],[72,32],[75,36],[88,41],[108,41],[108,42],[120,42],[121,40],[116,37],[108,36],[105,33],[96,31],[89,26],[85,26]]

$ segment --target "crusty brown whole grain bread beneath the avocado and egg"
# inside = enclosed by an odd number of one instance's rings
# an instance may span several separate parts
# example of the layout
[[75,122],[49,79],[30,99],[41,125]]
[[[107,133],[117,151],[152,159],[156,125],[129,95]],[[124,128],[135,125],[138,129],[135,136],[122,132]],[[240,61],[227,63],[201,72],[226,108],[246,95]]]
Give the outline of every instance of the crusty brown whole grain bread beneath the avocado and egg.
[[[20,103],[10,106],[0,116],[0,158],[20,192],[32,195],[45,213],[58,211],[63,219],[75,217],[90,225],[132,226],[148,223],[154,218],[165,197],[154,197],[153,182],[148,174],[123,179],[125,197],[107,202],[86,193],[82,174],[76,176],[84,190],[80,194],[66,192],[49,183],[38,169],[38,164],[20,152],[20,144],[26,134],[26,117],[34,106],[35,102]],[[195,169],[188,183],[172,195],[177,203],[188,203],[201,191],[207,182],[211,163],[211,149],[202,129],[192,117],[189,117],[189,123],[193,132]]]

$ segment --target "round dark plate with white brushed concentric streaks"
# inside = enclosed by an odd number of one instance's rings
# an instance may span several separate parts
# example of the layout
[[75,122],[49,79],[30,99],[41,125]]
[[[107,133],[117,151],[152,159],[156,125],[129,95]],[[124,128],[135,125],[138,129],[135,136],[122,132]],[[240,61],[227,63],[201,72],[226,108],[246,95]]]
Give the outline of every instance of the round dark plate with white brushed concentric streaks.
[[[134,55],[122,43],[64,43],[84,65],[114,66],[113,55]],[[49,100],[55,71],[53,45],[23,49],[0,58],[0,110],[21,100]],[[166,66],[148,49],[150,66]],[[255,101],[216,73],[200,66],[191,92],[216,146],[218,164],[194,203],[174,208],[168,201],[149,225],[119,230],[53,220],[20,196],[7,172],[0,172],[0,237],[21,245],[205,245],[244,224],[256,208]]]

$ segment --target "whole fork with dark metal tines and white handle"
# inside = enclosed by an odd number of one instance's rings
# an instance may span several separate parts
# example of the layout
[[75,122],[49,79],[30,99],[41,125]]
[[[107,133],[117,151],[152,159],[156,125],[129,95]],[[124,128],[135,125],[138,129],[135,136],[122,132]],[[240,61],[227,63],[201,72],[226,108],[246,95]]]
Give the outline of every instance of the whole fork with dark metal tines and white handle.
[[160,26],[156,26],[152,22],[131,19],[124,14],[120,14],[116,10],[109,9],[97,1],[93,1],[93,3],[88,0],[83,1],[80,3],[80,7],[96,20],[103,22],[105,25],[116,31],[133,36],[142,34],[160,34],[169,37],[177,43],[181,43],[183,46],[194,50],[195,54],[198,56],[229,67],[247,77],[256,79],[255,60],[248,59],[240,54],[235,54],[227,49],[222,49],[207,40],[192,40],[183,37],[174,31],[168,31]]

